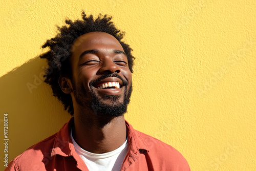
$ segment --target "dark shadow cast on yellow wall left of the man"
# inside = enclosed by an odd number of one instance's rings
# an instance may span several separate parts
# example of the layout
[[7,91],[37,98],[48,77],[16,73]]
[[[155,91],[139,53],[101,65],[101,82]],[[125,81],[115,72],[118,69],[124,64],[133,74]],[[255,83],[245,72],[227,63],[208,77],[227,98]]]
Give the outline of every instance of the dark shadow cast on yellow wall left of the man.
[[36,57],[0,78],[0,125],[4,130],[4,114],[8,113],[9,162],[59,131],[71,117],[53,96],[50,86],[40,79],[43,66],[47,66],[46,62]]

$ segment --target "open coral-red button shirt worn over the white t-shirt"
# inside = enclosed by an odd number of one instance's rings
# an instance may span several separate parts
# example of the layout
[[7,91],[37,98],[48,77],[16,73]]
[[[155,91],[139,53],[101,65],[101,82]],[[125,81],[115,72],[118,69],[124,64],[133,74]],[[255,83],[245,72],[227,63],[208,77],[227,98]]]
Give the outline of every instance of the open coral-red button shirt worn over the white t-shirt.
[[[5,170],[88,170],[70,138],[74,119],[60,131],[13,159]],[[172,146],[133,129],[126,122],[128,152],[121,170],[190,170],[186,159]]]

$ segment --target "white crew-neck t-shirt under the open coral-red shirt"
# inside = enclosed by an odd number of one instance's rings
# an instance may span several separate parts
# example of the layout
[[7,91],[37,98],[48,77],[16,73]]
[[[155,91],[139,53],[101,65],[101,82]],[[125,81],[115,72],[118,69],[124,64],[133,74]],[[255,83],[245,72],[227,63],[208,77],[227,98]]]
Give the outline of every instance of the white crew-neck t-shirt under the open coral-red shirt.
[[114,151],[103,154],[95,154],[85,151],[75,142],[72,136],[72,130],[70,136],[74,144],[76,153],[81,157],[84,163],[86,163],[90,171],[116,171],[121,169],[123,159],[128,152],[127,138],[125,142]]

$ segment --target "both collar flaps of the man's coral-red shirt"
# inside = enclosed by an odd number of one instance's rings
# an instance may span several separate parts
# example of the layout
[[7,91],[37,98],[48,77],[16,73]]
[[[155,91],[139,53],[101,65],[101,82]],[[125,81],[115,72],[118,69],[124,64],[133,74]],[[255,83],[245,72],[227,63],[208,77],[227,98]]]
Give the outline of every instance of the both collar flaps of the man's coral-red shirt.
[[[148,147],[143,141],[143,139],[138,134],[138,131],[135,131],[130,123],[125,121],[126,124],[126,132],[127,132],[127,140],[130,153],[137,154],[141,149],[148,152]],[[62,126],[60,131],[57,133],[56,138],[54,140],[51,157],[55,155],[61,155],[64,157],[72,156],[75,153],[75,148],[72,143],[70,133],[71,128],[74,125],[74,117],[72,117],[68,123]]]

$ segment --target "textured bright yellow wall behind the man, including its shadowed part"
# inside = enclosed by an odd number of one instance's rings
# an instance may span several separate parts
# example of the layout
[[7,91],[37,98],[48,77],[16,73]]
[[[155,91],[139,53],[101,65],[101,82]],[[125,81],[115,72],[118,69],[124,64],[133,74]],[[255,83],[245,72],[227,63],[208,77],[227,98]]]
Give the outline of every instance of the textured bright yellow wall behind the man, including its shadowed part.
[[[40,46],[66,17],[110,14],[136,57],[126,119],[191,170],[255,170],[254,0],[1,1],[0,123],[9,160],[70,118],[40,76]],[[38,80],[35,81],[35,78]],[[32,93],[27,83],[37,88]],[[4,146],[1,143],[1,168]]]

